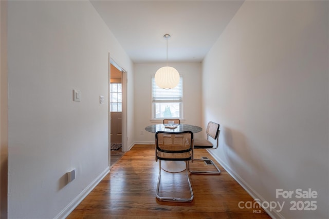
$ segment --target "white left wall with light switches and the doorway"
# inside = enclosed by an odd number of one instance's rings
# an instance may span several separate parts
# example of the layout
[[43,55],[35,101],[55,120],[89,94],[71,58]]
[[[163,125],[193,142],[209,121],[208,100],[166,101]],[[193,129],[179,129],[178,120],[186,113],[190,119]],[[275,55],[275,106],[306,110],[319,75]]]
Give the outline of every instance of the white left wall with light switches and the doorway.
[[9,218],[64,216],[108,171],[108,103],[99,104],[108,53],[133,80],[132,62],[88,1],[8,2]]

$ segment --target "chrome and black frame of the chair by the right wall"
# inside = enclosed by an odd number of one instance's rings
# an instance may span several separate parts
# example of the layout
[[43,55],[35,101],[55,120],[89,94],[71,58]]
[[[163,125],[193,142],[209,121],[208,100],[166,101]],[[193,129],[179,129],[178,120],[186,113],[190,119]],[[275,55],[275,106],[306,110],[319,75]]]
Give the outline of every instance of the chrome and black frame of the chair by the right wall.
[[[209,129],[210,129],[210,126],[217,126],[216,128],[216,131],[213,132],[213,133],[210,133]],[[209,122],[208,125],[207,125],[207,129],[206,129],[206,133],[207,133],[207,142],[209,143],[210,146],[198,146],[198,145],[194,145],[193,146],[193,149],[216,149],[218,148],[218,136],[220,135],[220,125],[217,124],[217,123],[214,123],[214,122]],[[209,141],[209,136],[212,137],[214,140],[216,140],[216,146],[213,147],[213,144]],[[196,141],[195,141],[196,142]],[[188,162],[188,170],[190,173],[194,173],[194,174],[215,174],[215,175],[219,175],[221,174],[221,170],[220,168],[217,167],[217,165],[212,161],[210,160],[209,158],[201,158],[201,159],[195,159],[193,158],[193,161],[197,161],[197,162],[209,162],[211,165],[213,165],[216,169],[216,171],[194,171],[194,170],[191,170],[190,168],[190,163]]]

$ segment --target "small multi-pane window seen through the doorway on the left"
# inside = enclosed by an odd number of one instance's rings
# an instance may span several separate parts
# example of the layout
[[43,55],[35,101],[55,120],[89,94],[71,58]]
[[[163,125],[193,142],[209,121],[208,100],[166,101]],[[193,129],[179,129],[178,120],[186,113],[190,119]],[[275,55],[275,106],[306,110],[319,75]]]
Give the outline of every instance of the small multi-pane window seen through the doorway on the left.
[[121,83],[111,83],[109,85],[109,111],[122,112]]

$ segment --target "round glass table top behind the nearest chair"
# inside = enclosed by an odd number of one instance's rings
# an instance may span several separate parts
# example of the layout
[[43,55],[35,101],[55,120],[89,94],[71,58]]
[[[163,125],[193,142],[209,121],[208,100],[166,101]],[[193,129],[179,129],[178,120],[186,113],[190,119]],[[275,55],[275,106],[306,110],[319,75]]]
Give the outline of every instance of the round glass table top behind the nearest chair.
[[167,124],[156,124],[156,125],[151,125],[145,128],[148,132],[153,132],[156,133],[157,131],[168,131],[168,132],[181,132],[181,131],[191,131],[193,133],[197,133],[202,131],[201,127],[198,126],[193,126],[193,125],[188,125],[188,124],[179,124],[179,125],[174,125],[173,128],[169,127]]

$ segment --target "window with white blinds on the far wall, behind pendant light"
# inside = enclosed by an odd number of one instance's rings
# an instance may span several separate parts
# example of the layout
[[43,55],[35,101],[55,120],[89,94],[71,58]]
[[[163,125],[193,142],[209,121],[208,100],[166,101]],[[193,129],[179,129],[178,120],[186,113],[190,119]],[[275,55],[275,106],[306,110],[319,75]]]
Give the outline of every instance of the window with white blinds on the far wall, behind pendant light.
[[182,118],[182,77],[172,89],[161,89],[152,77],[152,111],[154,119]]

